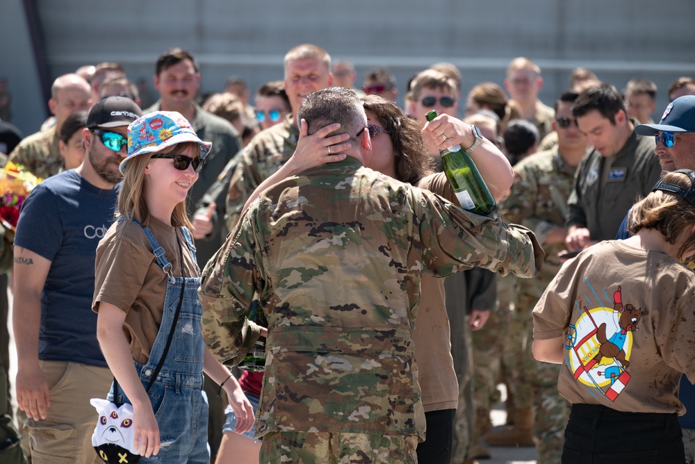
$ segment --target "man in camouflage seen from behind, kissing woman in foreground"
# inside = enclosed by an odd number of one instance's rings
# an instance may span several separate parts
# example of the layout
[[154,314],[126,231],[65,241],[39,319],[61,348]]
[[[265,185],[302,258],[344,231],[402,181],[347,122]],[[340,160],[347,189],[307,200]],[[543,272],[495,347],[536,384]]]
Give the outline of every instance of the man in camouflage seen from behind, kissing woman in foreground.
[[373,154],[351,90],[315,92],[297,117],[310,134],[340,123],[348,156],[250,206],[204,270],[204,338],[221,361],[238,358],[259,294],[262,463],[415,463],[425,420],[412,343],[420,276],[475,265],[533,276],[542,250],[526,229],[363,167]]

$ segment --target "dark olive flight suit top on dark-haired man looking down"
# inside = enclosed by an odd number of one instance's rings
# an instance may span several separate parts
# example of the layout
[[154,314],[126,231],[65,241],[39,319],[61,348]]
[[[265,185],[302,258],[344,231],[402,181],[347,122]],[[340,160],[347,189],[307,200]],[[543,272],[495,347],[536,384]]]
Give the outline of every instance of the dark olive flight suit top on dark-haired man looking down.
[[[610,169],[607,163],[612,161]],[[610,240],[637,196],[646,197],[661,175],[654,138],[632,132],[616,156],[595,149],[584,156],[567,204],[568,226],[589,229],[591,240]]]

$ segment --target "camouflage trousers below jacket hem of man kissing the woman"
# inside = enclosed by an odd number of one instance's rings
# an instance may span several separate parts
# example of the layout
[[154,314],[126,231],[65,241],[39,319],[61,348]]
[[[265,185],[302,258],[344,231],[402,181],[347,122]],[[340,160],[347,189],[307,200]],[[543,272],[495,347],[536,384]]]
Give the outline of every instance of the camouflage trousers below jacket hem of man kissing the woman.
[[417,464],[416,436],[375,433],[275,432],[263,436],[259,462],[293,464]]

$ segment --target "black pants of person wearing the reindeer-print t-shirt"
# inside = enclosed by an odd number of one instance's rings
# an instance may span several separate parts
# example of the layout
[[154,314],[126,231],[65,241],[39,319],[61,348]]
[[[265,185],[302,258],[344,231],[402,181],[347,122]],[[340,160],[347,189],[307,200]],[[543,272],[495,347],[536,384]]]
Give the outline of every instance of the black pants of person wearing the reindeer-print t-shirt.
[[574,404],[565,429],[562,464],[685,463],[678,415],[623,413]]

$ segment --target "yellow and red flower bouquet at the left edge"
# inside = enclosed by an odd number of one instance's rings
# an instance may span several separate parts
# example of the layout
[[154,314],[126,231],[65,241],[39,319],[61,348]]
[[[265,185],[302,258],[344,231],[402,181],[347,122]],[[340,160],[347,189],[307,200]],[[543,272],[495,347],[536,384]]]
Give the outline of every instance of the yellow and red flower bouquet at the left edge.
[[0,170],[0,222],[10,231],[17,229],[19,210],[24,199],[43,179],[28,172],[22,165],[7,163]]

